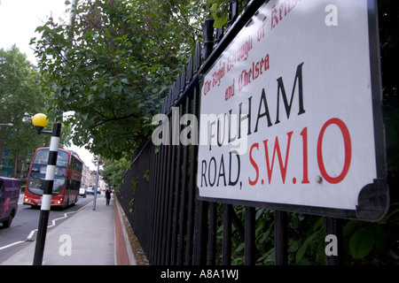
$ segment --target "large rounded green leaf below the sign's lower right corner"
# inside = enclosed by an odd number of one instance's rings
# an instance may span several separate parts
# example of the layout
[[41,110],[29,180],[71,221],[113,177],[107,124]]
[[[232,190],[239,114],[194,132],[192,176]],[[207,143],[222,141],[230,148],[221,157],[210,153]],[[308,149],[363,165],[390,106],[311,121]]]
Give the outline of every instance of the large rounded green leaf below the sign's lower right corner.
[[372,232],[368,229],[360,228],[350,238],[349,251],[354,258],[363,258],[372,251],[373,245]]

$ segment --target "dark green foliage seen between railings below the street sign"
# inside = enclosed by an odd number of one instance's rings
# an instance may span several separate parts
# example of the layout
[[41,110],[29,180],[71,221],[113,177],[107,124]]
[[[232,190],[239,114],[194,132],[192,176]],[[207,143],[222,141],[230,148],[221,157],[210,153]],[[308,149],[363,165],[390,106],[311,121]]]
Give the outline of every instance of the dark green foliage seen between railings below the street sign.
[[[245,207],[233,206],[239,221],[245,223]],[[217,244],[218,262],[222,262],[223,205],[218,204]],[[255,247],[258,251],[256,264],[275,264],[274,211],[262,208],[255,210]],[[377,223],[342,220],[344,264],[398,264],[397,223],[399,203],[391,206],[387,216]],[[288,264],[325,264],[325,218],[288,213]],[[244,264],[245,243],[242,231],[232,226],[231,264]]]

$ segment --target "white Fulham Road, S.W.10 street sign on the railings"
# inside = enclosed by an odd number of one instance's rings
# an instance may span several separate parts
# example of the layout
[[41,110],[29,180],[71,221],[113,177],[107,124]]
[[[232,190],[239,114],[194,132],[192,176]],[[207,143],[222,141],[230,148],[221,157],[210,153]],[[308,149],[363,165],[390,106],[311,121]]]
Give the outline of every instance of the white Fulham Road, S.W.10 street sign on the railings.
[[382,218],[380,108],[375,1],[263,4],[203,79],[200,199]]

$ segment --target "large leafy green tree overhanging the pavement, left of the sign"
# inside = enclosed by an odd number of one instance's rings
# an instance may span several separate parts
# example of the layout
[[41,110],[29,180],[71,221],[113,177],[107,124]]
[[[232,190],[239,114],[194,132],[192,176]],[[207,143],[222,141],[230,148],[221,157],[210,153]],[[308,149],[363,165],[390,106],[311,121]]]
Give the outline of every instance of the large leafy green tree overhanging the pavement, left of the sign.
[[[49,19],[33,39],[49,110],[74,111],[74,144],[131,156],[200,28],[201,1],[82,0],[74,27]],[[69,4],[69,2],[66,2]],[[184,58],[184,59],[183,59]]]

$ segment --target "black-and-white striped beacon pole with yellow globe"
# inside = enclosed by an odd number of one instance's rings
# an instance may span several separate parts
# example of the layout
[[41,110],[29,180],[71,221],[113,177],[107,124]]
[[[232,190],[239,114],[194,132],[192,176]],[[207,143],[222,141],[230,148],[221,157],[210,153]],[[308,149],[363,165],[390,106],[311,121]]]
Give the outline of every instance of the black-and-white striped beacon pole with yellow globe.
[[44,114],[38,113],[35,114],[35,116],[33,117],[32,123],[37,130],[37,134],[51,134],[49,159],[46,168],[46,176],[44,179],[42,207],[40,210],[39,226],[37,228],[37,239],[33,262],[34,265],[42,265],[44,243],[46,241],[47,225],[49,223],[49,215],[51,209],[52,187],[54,185],[57,156],[59,153],[59,136],[61,134],[61,122],[54,123],[51,132],[43,131],[43,128],[49,123],[49,120]]

